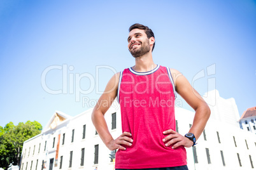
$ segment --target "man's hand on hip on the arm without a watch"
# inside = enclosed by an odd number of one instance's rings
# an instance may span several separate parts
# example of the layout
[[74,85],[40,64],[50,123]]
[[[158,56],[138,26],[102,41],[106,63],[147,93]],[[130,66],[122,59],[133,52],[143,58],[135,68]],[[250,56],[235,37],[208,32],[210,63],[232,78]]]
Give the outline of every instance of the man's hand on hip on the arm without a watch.
[[132,136],[131,133],[124,132],[117,139],[109,141],[107,147],[110,150],[116,150],[116,149],[126,150],[126,148],[123,147],[122,145],[127,145],[131,147],[132,141],[133,141],[131,136]]

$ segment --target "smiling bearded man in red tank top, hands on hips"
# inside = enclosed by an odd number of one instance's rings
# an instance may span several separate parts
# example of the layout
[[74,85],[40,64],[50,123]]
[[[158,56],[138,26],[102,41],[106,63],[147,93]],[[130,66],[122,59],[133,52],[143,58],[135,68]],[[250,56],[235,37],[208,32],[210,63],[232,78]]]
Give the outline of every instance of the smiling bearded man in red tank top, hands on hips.
[[[118,149],[116,169],[187,169],[184,147],[196,144],[210,117],[210,108],[178,70],[153,62],[155,36],[151,29],[136,23],[129,28],[127,41],[135,65],[113,75],[99,98],[92,112],[97,133],[106,147]],[[175,131],[176,92],[196,111],[185,136]],[[104,114],[116,97],[123,133],[114,140]]]

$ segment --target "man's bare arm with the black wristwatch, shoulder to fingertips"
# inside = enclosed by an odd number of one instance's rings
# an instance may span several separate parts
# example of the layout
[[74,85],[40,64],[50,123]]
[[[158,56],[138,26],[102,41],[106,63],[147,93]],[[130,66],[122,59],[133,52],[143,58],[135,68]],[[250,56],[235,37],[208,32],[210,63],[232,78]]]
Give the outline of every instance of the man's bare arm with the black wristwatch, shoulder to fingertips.
[[[203,133],[206,122],[210,117],[210,108],[203,100],[203,98],[199,95],[199,93],[197,93],[197,91],[190,85],[188,80],[178,70],[171,69],[171,74],[173,76],[175,89],[178,94],[185,101],[187,101],[190,107],[194,108],[194,110],[196,111],[193,125],[190,128],[189,132],[193,133],[196,136],[196,140],[198,140],[201,133]],[[170,134],[165,138],[165,140],[169,140],[167,145],[175,143],[175,145],[173,146],[174,148],[180,145],[184,145],[185,147],[191,147],[193,144],[192,141],[188,140],[188,138],[181,136],[175,131],[168,130],[164,133]]]

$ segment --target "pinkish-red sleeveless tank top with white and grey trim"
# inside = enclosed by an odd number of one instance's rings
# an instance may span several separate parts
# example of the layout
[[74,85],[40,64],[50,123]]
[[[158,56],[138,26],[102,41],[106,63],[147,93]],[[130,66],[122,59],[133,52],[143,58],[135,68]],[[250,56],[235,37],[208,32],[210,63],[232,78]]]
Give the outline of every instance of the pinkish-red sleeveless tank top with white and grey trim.
[[173,78],[167,67],[157,65],[150,72],[131,68],[120,72],[117,100],[120,103],[122,131],[132,134],[132,146],[118,150],[116,169],[142,169],[184,166],[183,146],[166,147],[162,139],[167,129],[175,130]]

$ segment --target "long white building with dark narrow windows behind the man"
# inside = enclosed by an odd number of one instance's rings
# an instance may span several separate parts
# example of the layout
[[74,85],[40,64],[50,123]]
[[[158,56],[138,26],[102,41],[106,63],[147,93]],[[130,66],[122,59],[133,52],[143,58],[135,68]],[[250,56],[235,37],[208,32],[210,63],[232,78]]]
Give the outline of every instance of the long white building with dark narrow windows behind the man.
[[[187,148],[188,169],[254,169],[256,135],[239,128],[238,108],[233,98],[224,99],[218,91],[208,92],[211,117],[196,147]],[[215,102],[212,102],[215,101]],[[180,134],[188,132],[194,112],[176,107]],[[41,134],[24,142],[20,169],[112,170],[111,152],[96,134],[92,109],[70,117],[56,111]],[[113,138],[122,134],[120,109],[112,105],[105,115]]]

